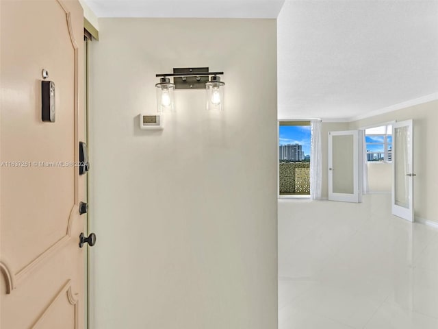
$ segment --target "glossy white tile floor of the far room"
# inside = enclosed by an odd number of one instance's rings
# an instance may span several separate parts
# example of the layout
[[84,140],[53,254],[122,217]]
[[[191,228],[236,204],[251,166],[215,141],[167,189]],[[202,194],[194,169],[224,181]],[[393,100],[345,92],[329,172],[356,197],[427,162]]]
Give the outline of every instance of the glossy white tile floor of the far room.
[[279,329],[438,329],[438,230],[390,204],[279,201]]

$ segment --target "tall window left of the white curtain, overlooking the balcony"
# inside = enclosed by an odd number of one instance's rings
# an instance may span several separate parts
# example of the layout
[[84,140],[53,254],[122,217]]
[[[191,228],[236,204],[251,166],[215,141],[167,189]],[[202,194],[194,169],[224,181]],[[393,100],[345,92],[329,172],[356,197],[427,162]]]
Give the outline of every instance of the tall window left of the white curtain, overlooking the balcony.
[[279,121],[279,195],[310,195],[310,121]]

